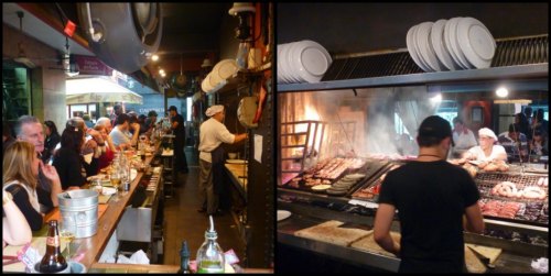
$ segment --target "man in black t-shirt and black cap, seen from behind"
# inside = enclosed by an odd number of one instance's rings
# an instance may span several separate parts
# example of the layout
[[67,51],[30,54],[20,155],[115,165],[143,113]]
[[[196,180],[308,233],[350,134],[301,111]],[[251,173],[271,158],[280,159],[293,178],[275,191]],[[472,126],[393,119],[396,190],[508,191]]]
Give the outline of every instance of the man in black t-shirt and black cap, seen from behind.
[[[417,142],[417,161],[389,172],[381,185],[375,241],[401,258],[400,273],[464,273],[463,229],[484,230],[478,189],[465,169],[445,161],[453,144],[447,121],[426,118]],[[390,235],[396,210],[400,244]]]

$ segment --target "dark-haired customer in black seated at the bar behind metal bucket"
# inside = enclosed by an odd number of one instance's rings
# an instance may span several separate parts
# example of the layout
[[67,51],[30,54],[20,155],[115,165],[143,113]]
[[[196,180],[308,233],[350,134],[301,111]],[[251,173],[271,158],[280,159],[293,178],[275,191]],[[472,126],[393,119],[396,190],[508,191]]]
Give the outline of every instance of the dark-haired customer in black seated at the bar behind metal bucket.
[[78,128],[66,128],[62,134],[62,146],[54,155],[54,167],[60,174],[62,188],[79,188],[86,181],[86,170],[83,167],[84,157],[80,148],[84,144],[84,133]]

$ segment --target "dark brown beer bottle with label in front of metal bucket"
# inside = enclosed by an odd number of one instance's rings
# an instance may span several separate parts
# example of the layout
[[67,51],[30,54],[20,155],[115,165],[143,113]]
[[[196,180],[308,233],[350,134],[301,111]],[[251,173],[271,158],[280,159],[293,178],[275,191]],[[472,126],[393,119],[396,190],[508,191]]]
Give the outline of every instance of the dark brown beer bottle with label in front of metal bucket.
[[40,262],[41,273],[56,273],[67,268],[67,262],[61,253],[60,232],[57,231],[57,221],[51,220],[46,238],[46,254]]

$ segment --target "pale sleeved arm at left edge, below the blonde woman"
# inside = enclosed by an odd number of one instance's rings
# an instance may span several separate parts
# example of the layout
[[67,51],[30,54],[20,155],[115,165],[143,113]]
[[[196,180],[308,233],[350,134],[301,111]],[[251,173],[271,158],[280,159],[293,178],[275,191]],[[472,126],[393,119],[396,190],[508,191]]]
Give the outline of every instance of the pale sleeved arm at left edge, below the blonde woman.
[[19,210],[10,192],[2,190],[2,249],[6,245],[23,245],[31,242],[31,227]]

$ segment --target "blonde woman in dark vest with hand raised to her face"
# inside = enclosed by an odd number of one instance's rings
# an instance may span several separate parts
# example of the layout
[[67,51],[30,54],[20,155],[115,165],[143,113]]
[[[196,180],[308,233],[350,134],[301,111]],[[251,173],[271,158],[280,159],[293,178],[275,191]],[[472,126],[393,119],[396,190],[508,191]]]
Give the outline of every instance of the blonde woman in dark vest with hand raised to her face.
[[6,150],[2,163],[3,189],[12,195],[13,201],[25,217],[32,231],[42,228],[44,217],[40,212],[36,196],[40,168],[47,179],[57,184],[52,186],[52,195],[62,192],[57,172],[51,165],[42,163],[34,152],[33,144],[17,141]]

